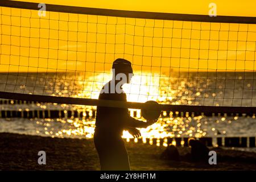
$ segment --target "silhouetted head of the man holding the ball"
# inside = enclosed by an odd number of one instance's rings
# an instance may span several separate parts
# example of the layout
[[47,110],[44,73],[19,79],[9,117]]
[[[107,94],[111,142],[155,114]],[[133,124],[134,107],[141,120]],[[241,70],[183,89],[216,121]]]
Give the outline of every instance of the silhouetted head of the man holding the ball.
[[[131,62],[125,59],[118,58],[112,65],[113,77],[115,80],[122,80],[123,83],[129,84],[133,76],[133,68]],[[125,80],[123,78],[126,77]]]

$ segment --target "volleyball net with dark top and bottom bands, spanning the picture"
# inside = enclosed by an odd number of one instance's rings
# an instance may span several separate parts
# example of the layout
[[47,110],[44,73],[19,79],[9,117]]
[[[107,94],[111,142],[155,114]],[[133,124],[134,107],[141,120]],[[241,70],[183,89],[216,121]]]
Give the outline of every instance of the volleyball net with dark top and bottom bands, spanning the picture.
[[[1,98],[255,113],[254,17],[0,5]],[[125,105],[97,100],[117,58],[133,64]]]

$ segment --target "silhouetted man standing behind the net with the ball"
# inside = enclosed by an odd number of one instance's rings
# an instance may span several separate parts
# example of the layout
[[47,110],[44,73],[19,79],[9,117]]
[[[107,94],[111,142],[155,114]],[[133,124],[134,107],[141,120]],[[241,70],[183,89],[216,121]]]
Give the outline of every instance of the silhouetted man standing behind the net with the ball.
[[[98,99],[126,101],[122,85],[129,84],[133,76],[131,63],[125,59],[117,59],[112,71],[113,78],[104,85]],[[143,122],[130,117],[127,108],[97,106],[94,145],[100,158],[101,170],[130,170],[129,157],[122,139],[123,130],[139,137],[141,133],[136,127],[146,128],[155,122]]]

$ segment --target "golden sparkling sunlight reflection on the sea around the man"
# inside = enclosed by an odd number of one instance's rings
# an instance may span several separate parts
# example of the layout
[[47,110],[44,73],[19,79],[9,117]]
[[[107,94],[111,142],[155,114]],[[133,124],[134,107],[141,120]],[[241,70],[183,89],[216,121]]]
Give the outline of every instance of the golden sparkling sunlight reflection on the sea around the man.
[[[195,90],[192,92],[188,89],[188,85],[192,84],[191,82],[186,82],[182,78],[179,80],[179,86],[175,89],[172,88],[172,85],[175,84],[174,78],[164,78],[160,79],[159,75],[152,75],[150,73],[146,73],[138,76],[139,74],[135,74],[133,77],[131,84],[126,84],[123,86],[127,94],[127,101],[135,101],[135,102],[146,102],[148,100],[155,100],[159,103],[165,104],[198,104],[195,101],[195,96],[200,97],[206,93],[200,92],[199,90]],[[109,81],[111,75],[109,74],[100,74],[95,75],[94,77],[88,78],[86,81],[79,81],[79,86],[83,90],[80,93],[75,93],[72,97],[84,97],[84,98],[98,98],[98,94],[104,85],[105,82]],[[168,82],[168,86],[159,87],[160,82]],[[167,84],[165,84],[167,85]],[[94,92],[93,90],[98,90]],[[61,93],[56,91],[56,93]],[[53,94],[55,95],[55,94]],[[40,105],[42,109],[47,109],[49,106]],[[50,135],[51,137],[73,137],[80,136],[85,138],[93,138],[94,127],[95,127],[95,118],[92,117],[93,110],[96,109],[95,106],[69,106],[69,105],[61,105],[61,108],[65,109],[64,113],[67,113],[67,110],[79,110],[82,112],[82,118],[71,118],[71,119],[42,119],[41,121],[37,121],[37,125],[43,125],[44,131],[40,131],[38,129],[36,131],[37,134],[44,133],[45,135]],[[140,110],[137,109],[129,109],[132,116],[135,114],[135,118],[144,119],[141,117]],[[163,146],[167,146],[166,138],[172,137],[204,137],[209,132],[214,132],[214,135],[217,134],[217,131],[214,127],[212,127],[211,131],[208,131],[205,127],[202,127],[202,124],[205,126],[208,124],[208,121],[212,118],[204,117],[203,115],[197,117],[190,117],[188,114],[185,114],[184,117],[179,117],[176,114],[179,113],[167,113],[163,112],[162,118],[159,118],[158,122],[154,125],[147,127],[146,129],[140,129],[142,137],[141,140],[143,143],[148,142],[153,144],[153,138],[156,138],[156,145],[160,145],[160,141]],[[216,118],[216,123],[218,122],[227,122],[232,123],[238,119],[237,116],[233,118],[226,119],[226,117]],[[53,125],[55,123],[55,125]],[[56,126],[56,123],[60,123],[59,127]],[[226,134],[226,131],[221,131],[222,134]],[[133,139],[133,137],[127,132],[123,131],[123,138],[126,138],[127,142],[130,140],[134,140],[134,142],[139,142],[138,139]],[[176,144],[175,140],[172,141],[172,144]],[[184,144],[184,141],[181,141],[181,144]]]

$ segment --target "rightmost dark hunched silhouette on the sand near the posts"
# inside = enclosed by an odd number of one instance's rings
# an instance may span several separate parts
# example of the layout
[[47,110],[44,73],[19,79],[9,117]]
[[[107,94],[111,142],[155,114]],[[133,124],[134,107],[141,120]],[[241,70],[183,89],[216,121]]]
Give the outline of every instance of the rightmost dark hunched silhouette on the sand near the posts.
[[189,139],[189,146],[191,146],[191,160],[192,162],[208,163],[209,148],[199,140]]

